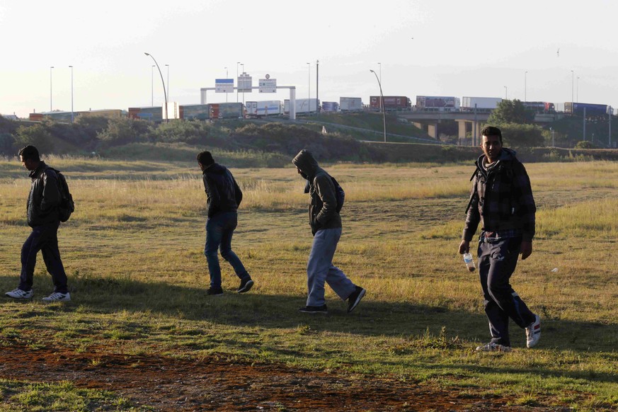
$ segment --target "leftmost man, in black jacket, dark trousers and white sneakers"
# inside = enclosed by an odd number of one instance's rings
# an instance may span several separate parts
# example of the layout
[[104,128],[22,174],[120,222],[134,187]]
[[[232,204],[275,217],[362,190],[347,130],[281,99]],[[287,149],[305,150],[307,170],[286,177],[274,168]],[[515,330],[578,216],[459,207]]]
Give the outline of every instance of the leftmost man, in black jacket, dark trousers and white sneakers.
[[13,299],[30,299],[33,297],[33,277],[37,254],[41,251],[47,272],[52,275],[54,292],[44,297],[45,302],[67,302],[71,295],[67,287],[67,274],[58,250],[58,227],[60,218],[60,189],[58,176],[53,168],[40,160],[39,151],[34,146],[20,149],[21,164],[30,171],[30,195],[26,213],[28,225],[32,232],[21,248],[21,275],[19,286],[6,296]]

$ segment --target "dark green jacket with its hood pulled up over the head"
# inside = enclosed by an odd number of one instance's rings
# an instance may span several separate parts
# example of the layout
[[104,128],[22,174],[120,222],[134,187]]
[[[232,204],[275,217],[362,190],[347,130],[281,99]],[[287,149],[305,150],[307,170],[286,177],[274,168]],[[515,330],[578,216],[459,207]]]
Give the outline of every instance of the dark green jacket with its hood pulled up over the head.
[[309,225],[311,233],[321,229],[341,227],[341,216],[337,212],[335,185],[331,176],[318,166],[318,162],[308,150],[301,150],[292,160],[309,181]]

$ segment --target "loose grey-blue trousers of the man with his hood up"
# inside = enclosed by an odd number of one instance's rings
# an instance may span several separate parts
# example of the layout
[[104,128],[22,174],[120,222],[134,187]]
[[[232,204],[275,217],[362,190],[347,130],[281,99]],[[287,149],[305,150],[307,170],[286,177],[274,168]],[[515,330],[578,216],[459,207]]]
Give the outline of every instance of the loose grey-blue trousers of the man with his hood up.
[[333,256],[339,238],[341,227],[336,229],[322,229],[316,232],[314,243],[311,245],[309,262],[307,263],[307,306],[322,306],[324,299],[324,283],[345,300],[356,290],[356,285],[345,276],[341,269],[333,265]]

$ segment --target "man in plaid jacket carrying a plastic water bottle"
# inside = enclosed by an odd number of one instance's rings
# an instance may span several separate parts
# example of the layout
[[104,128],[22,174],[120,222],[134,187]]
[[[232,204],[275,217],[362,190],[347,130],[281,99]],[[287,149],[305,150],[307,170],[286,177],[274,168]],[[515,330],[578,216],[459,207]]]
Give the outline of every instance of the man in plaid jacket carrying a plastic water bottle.
[[479,275],[489,320],[491,341],[479,351],[509,352],[509,318],[526,331],[526,345],[532,348],[541,338],[541,321],[511,287],[517,257],[525,260],[532,253],[534,214],[530,178],[515,157],[515,151],[502,146],[498,127],[481,131],[483,155],[476,161],[466,224],[459,253],[468,253],[472,236],[481,226]]

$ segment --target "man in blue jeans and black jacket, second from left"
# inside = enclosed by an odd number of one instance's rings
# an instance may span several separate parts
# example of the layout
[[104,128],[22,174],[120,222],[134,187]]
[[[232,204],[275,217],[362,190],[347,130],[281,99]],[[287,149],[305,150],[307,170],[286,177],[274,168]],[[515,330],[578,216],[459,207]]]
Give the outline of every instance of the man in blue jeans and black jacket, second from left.
[[221,295],[221,267],[217,257],[217,249],[221,256],[229,262],[236,276],[241,280],[236,292],[248,292],[253,286],[253,280],[236,253],[231,250],[231,236],[238,225],[238,207],[243,193],[236,184],[234,176],[225,166],[214,163],[210,151],[198,154],[198,164],[202,169],[202,181],[207,196],[206,246],[204,254],[210,271],[210,288],[207,294]]

